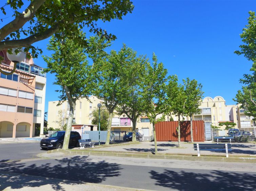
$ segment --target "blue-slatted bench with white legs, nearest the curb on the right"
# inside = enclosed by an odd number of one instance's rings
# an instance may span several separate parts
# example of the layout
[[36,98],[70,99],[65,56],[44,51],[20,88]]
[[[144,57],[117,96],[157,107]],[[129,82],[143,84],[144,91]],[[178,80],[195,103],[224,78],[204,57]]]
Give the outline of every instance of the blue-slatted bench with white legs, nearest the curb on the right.
[[226,157],[229,157],[229,151],[232,151],[231,144],[207,144],[207,143],[194,143],[194,149],[197,150],[197,156],[200,157],[201,151],[226,151]]

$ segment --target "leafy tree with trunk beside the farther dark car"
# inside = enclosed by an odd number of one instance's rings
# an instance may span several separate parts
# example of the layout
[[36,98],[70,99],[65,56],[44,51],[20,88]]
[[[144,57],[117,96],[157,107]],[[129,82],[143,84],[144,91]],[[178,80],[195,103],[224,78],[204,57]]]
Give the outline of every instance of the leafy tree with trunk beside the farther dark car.
[[136,56],[136,52],[129,49],[129,59],[123,62],[123,98],[118,104],[118,113],[125,114],[133,122],[132,141],[136,141],[136,122],[145,113],[143,98],[143,80],[145,78],[145,56]]

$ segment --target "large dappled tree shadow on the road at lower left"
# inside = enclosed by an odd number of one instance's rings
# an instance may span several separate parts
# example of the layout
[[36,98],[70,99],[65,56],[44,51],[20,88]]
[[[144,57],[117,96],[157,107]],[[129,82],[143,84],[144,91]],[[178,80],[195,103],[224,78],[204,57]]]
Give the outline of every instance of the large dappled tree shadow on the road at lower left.
[[[44,164],[26,164],[20,161],[7,162],[8,160],[0,161],[0,171],[18,174],[27,174],[34,176],[42,176],[45,178],[61,179],[54,181],[54,184],[42,181],[38,177],[33,179],[34,181],[26,181],[23,176],[16,175],[13,178],[9,178],[0,175],[0,183],[11,189],[20,189],[25,186],[38,187],[41,185],[52,184],[54,190],[64,190],[61,187],[61,183],[70,181],[81,181],[90,183],[101,183],[106,180],[107,177],[119,176],[120,166],[116,163],[107,163],[104,160],[100,162],[92,162],[87,159],[88,156],[74,156],[71,158],[55,159],[51,162]],[[1,190],[5,189],[1,186]]]

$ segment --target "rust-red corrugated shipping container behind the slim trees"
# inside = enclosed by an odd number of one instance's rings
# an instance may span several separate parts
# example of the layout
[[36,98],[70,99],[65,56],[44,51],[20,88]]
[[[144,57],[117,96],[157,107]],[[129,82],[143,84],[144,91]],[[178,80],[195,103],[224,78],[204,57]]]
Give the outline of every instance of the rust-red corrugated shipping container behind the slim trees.
[[[204,141],[204,121],[192,121],[193,140]],[[178,141],[178,121],[161,121],[155,125],[157,141]],[[191,141],[190,121],[181,121],[180,140]]]

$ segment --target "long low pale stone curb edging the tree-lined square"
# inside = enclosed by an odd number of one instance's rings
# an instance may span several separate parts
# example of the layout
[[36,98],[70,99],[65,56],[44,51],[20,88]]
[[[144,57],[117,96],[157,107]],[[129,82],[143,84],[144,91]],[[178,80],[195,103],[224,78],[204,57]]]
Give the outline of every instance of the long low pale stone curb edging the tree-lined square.
[[109,157],[130,157],[130,158],[146,158],[146,159],[169,159],[169,160],[189,160],[189,161],[216,161],[216,162],[249,162],[256,163],[256,157],[221,157],[221,156],[200,156],[197,155],[166,155],[166,154],[138,154],[124,152],[101,152],[101,151],[72,151],[63,149],[54,149],[47,153],[65,153],[68,155],[95,155]]

